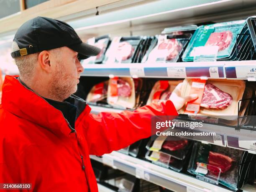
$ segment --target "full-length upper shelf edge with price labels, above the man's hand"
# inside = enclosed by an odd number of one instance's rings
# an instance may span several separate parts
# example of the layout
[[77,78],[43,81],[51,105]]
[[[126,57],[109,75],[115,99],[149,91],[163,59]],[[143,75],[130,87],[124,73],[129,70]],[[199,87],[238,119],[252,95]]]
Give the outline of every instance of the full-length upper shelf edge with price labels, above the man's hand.
[[82,76],[247,79],[256,81],[256,61],[84,64]]

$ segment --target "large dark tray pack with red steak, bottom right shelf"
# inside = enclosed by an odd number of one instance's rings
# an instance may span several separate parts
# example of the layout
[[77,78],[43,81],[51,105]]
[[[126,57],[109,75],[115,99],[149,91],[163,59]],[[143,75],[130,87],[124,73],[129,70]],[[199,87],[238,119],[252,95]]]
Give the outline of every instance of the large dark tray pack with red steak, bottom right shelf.
[[248,180],[253,158],[247,151],[195,142],[188,172],[207,182],[238,190]]

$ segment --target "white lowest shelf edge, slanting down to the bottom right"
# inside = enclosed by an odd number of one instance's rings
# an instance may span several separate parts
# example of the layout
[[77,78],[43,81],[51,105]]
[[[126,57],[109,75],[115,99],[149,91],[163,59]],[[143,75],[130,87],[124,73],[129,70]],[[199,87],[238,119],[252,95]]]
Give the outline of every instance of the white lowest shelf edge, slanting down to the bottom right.
[[[90,158],[107,164],[114,169],[120,169],[138,178],[166,187],[174,192],[192,191],[189,189],[194,189],[193,191],[196,192],[230,192],[230,190],[223,187],[198,180],[186,174],[174,172],[170,169],[116,151],[113,151],[111,154],[105,154],[102,158],[96,156],[90,156]],[[254,191],[256,191],[256,186],[246,184],[243,187],[243,192]]]

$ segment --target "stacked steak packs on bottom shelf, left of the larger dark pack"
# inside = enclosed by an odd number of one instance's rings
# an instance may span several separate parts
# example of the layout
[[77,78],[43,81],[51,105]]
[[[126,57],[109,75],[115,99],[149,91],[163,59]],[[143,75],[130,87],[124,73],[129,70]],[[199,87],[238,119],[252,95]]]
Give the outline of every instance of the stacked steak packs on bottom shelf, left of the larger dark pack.
[[145,158],[154,164],[181,172],[186,170],[193,141],[178,137],[159,136],[148,142]]

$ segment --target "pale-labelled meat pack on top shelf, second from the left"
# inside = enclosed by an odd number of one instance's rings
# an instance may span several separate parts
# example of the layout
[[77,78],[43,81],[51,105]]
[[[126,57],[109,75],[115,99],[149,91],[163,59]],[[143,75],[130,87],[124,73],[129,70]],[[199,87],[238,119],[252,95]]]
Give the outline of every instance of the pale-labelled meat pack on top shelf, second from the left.
[[132,63],[141,39],[140,36],[114,37],[105,54],[103,63]]

